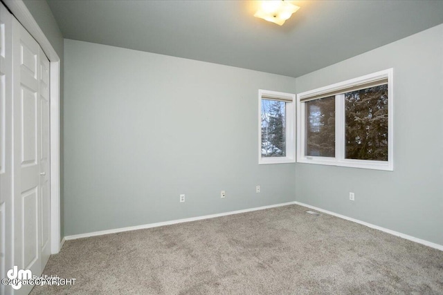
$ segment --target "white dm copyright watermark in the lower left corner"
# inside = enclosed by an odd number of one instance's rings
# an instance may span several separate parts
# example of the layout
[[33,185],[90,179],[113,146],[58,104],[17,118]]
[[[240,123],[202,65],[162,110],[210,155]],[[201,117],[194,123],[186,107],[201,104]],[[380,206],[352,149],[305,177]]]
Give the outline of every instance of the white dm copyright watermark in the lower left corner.
[[18,290],[23,285],[74,285],[76,278],[60,278],[60,276],[33,276],[30,269],[19,269],[17,265],[6,273],[8,278],[2,278],[2,285],[10,285]]

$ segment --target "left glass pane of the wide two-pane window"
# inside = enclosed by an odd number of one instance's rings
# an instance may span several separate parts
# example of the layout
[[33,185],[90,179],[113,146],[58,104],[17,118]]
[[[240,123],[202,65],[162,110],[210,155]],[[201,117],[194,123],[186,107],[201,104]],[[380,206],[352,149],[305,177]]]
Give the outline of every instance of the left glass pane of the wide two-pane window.
[[335,96],[305,102],[306,155],[335,157]]

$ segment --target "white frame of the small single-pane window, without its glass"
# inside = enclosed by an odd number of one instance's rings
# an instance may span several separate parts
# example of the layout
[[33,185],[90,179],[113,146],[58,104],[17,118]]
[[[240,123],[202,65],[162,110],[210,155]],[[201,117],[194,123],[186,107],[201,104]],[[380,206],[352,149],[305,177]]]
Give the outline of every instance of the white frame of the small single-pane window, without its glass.
[[[284,157],[262,157],[262,99],[266,97],[279,98],[286,102],[286,156]],[[291,102],[289,102],[289,100]],[[278,91],[258,90],[258,164],[283,164],[296,162],[296,95]]]

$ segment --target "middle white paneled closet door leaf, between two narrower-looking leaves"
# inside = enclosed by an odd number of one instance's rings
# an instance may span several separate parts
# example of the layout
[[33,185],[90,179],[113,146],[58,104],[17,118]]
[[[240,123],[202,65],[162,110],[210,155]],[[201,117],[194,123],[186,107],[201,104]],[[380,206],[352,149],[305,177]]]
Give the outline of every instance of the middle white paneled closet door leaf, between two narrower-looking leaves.
[[[39,44],[12,20],[14,120],[14,249],[19,269],[42,274]],[[28,294],[23,285],[15,294]]]

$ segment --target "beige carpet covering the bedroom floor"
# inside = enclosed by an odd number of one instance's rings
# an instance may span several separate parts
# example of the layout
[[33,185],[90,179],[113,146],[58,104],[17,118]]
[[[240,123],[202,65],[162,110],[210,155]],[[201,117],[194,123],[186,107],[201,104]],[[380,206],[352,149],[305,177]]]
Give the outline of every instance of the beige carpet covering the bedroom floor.
[[307,210],[70,240],[32,294],[443,294],[443,251]]

